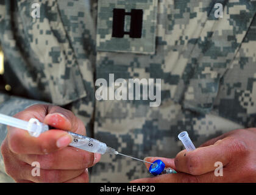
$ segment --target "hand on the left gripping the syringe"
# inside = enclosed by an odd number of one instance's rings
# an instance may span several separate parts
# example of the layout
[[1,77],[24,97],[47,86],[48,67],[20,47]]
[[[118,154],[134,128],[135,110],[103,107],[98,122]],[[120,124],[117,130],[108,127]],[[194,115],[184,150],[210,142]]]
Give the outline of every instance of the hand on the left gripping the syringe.
[[[31,137],[26,130],[8,127],[2,143],[5,171],[16,182],[88,182],[87,168],[101,155],[68,146],[72,137],[63,130],[85,135],[85,126],[68,110],[52,105],[33,105],[16,118],[39,121],[62,130],[49,130]],[[68,147],[67,147],[68,146]],[[34,161],[40,163],[40,176],[32,176]]]

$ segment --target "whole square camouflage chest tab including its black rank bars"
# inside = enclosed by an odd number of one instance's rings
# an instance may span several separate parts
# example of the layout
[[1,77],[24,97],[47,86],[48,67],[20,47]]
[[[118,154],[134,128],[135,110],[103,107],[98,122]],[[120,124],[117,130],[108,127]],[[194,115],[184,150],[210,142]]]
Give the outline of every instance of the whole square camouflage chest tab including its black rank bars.
[[99,0],[97,50],[155,54],[157,0]]

